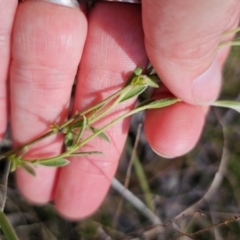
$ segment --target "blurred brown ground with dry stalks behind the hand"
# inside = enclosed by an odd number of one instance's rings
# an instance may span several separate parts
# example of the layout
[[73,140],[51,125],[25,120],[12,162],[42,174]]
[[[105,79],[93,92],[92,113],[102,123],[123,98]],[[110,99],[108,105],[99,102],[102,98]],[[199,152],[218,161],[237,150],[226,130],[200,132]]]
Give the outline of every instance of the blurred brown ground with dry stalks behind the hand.
[[[239,66],[240,51],[234,47],[225,65],[220,99],[240,100]],[[116,175],[122,183],[142,119],[142,114],[132,119]],[[239,122],[239,113],[212,108],[197,147],[186,156],[171,160],[157,156],[141,131],[128,189],[153,209],[161,227],[113,188],[94,216],[79,222],[65,221],[51,204],[34,207],[26,203],[16,191],[12,175],[5,212],[21,240],[239,239]],[[1,151],[9,147],[8,140],[1,143]],[[0,163],[2,176],[4,166],[5,163]]]

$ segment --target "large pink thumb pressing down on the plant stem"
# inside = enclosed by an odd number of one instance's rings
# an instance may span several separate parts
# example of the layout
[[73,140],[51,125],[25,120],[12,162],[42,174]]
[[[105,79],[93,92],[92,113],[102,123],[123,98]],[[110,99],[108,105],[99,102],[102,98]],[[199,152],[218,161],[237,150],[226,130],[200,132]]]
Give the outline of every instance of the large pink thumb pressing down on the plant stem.
[[209,104],[221,86],[222,33],[238,24],[236,0],[142,0],[145,46],[166,87],[190,104]]

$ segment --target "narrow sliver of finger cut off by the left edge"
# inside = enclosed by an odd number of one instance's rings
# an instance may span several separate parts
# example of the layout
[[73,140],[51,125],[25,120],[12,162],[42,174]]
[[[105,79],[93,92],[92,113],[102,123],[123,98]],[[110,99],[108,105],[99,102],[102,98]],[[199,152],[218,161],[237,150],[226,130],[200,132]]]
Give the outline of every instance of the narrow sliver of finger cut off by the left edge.
[[10,41],[17,0],[0,1],[0,140],[7,126],[7,78]]

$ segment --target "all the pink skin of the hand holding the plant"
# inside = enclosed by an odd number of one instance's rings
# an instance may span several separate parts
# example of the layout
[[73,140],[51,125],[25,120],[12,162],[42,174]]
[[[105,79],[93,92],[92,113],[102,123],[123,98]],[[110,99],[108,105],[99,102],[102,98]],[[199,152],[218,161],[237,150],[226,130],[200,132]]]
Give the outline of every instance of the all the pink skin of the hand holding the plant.
[[[2,2],[0,12],[6,8],[11,11],[6,13],[4,22],[0,21],[0,29],[5,28],[0,33],[6,36],[0,48],[7,49],[0,51],[1,62],[5,64],[1,66],[0,75],[3,86],[0,88],[0,110],[3,109],[0,134],[6,128],[9,33],[17,5],[13,0],[8,1],[8,6]],[[74,110],[82,110],[105,98],[121,88],[136,66],[146,66],[145,39],[148,56],[164,84],[185,100],[169,108],[149,111],[146,136],[152,148],[161,155],[175,157],[190,151],[200,136],[207,107],[186,102],[206,105],[217,97],[221,85],[220,69],[227,56],[227,50],[217,50],[217,45],[223,40],[222,32],[237,25],[238,2],[162,0],[153,4],[151,0],[143,0],[144,34],[138,5],[99,2],[87,20],[79,9],[40,1],[19,4],[10,65],[15,145],[41,135],[52,122],[66,119],[80,60]],[[193,82],[197,88],[192,87]],[[160,89],[158,96],[166,95],[169,91]],[[132,106],[133,102],[127,103],[118,112]],[[189,126],[189,121],[194,124]],[[128,123],[129,119],[107,131],[111,145],[96,139],[84,148],[102,151],[105,156],[71,159],[71,164],[59,172],[55,168],[38,167],[36,178],[19,169],[16,173],[19,190],[33,203],[54,200],[58,212],[68,219],[89,216],[97,210],[109,189]],[[52,156],[59,154],[61,149],[61,137],[53,137],[36,144],[26,157]]]

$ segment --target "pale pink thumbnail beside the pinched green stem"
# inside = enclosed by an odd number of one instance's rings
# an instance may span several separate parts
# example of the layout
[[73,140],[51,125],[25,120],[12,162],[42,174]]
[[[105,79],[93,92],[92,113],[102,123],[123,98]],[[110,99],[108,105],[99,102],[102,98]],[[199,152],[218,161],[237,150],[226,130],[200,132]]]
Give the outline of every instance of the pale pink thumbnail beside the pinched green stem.
[[221,71],[216,60],[192,84],[192,97],[198,105],[209,105],[218,97],[221,88]]

